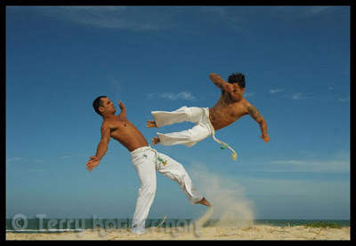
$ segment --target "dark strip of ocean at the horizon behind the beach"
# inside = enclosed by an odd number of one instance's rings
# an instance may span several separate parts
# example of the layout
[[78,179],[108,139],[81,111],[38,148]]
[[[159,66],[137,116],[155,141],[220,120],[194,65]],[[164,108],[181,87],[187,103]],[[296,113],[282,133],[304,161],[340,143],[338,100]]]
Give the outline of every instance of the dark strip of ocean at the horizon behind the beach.
[[[197,218],[148,218],[146,227],[192,226]],[[6,233],[61,233],[82,232],[90,229],[127,229],[131,218],[6,218]],[[163,223],[162,223],[163,222]],[[206,226],[220,226],[221,220],[210,218]],[[220,223],[220,224],[219,224]],[[328,223],[350,226],[350,219],[254,219],[249,221],[226,221],[227,226],[306,226],[313,223]]]

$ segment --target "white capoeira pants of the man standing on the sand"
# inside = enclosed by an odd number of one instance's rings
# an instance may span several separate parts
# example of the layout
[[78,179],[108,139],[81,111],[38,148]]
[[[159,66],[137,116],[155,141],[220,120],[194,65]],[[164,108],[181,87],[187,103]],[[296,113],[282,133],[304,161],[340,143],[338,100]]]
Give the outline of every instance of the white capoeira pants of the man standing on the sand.
[[[158,157],[166,161],[166,164],[159,161]],[[184,194],[188,196],[190,204],[193,205],[203,199],[203,195],[193,186],[182,164],[169,156],[158,153],[151,147],[140,147],[131,152],[131,161],[141,183],[131,228],[134,234],[145,233],[145,221],[156,194],[156,171],[176,181],[182,187]]]

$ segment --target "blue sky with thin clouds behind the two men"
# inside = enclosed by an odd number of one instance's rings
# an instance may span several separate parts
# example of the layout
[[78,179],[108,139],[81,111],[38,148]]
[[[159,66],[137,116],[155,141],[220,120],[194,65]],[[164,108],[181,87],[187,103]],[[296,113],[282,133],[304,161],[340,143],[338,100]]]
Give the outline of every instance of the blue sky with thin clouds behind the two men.
[[[156,149],[208,200],[245,201],[254,218],[350,218],[348,6],[7,6],[6,217],[132,218],[139,180],[125,147],[110,141],[85,169],[101,138],[93,99],[122,100],[151,139],[150,111],[214,106],[212,72],[246,75],[271,141],[245,116],[216,132],[237,162],[211,138]],[[204,210],[158,174],[149,218]]]

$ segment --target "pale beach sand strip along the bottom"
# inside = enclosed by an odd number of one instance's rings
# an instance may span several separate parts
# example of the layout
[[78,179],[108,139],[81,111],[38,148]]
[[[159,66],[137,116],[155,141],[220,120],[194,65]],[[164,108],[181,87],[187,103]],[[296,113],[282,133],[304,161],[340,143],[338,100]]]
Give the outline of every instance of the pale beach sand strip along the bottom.
[[206,226],[193,228],[147,228],[142,235],[128,229],[85,230],[80,233],[7,233],[6,240],[350,240],[350,226],[321,228],[305,226]]

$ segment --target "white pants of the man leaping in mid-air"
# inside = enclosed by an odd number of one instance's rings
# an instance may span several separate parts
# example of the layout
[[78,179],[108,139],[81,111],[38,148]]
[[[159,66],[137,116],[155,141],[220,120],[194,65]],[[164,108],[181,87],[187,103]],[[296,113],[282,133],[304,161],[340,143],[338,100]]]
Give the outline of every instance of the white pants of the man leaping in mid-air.
[[196,125],[187,130],[172,133],[158,132],[159,143],[164,146],[185,145],[192,147],[199,141],[214,134],[214,127],[210,123],[209,109],[207,107],[181,107],[173,112],[152,111],[158,127],[173,123],[190,122]]

